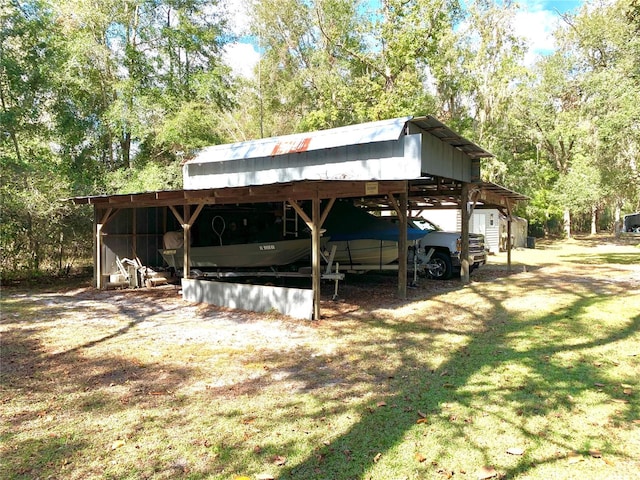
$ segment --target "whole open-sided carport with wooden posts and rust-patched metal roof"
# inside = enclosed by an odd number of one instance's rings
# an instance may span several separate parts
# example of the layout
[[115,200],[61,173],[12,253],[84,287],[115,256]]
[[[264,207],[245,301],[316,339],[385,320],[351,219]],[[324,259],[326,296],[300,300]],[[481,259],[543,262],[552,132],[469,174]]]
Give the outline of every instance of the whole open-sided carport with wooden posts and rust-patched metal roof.
[[[146,252],[142,255],[145,264],[153,265],[153,253],[164,233],[159,230],[166,231],[167,211],[183,231],[183,279],[189,280],[191,228],[206,205],[284,202],[311,231],[312,317],[318,319],[320,235],[337,199],[358,199],[362,204],[395,211],[400,232],[401,298],[406,298],[407,292],[407,219],[412,212],[435,206],[461,208],[462,280],[468,281],[469,265],[464,259],[468,257],[469,216],[474,206],[496,206],[509,218],[515,204],[526,199],[480,181],[480,160],[490,156],[434,117],[403,117],[208,147],[185,163],[183,190],[76,197],[73,201],[94,206],[98,288],[103,288],[108,278],[109,255],[138,257]],[[311,202],[311,215],[301,208],[303,201]],[[162,220],[158,211],[165,212]],[[109,227],[111,231],[107,231]]]

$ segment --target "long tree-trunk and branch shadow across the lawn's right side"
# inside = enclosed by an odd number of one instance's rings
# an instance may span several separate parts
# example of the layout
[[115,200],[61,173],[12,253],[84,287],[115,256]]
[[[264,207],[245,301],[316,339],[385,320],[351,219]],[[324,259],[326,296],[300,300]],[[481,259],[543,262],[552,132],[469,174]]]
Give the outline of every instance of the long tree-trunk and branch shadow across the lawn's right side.
[[[610,285],[607,286],[611,288]],[[594,287],[595,290],[601,288],[604,285]],[[575,294],[570,278],[559,282],[557,289]],[[478,293],[483,295],[482,292]],[[556,444],[562,451],[588,450],[588,445],[575,445],[572,438],[560,433],[550,435],[543,431],[542,426],[536,426],[535,422],[530,424],[528,419],[569,412],[573,398],[593,391],[597,388],[594,385],[610,383],[605,373],[593,365],[579,361],[565,365],[556,355],[588,350],[629,338],[640,329],[640,316],[634,317],[619,329],[602,331],[594,336],[584,326],[580,326],[578,322],[572,323],[571,320],[589,309],[597,308],[606,299],[585,293],[568,308],[518,322],[505,320],[509,318],[509,314],[503,303],[508,299],[506,292],[504,296],[495,295],[491,298],[492,312],[485,316],[478,331],[470,335],[469,343],[451,349],[448,359],[436,369],[422,363],[417,352],[429,349],[439,333],[466,335],[469,331],[452,331],[450,328],[438,331],[438,327],[430,322],[422,324],[419,321],[402,323],[384,319],[362,320],[362,328],[386,330],[391,340],[376,345],[366,342],[351,345],[350,355],[356,357],[351,363],[373,364],[377,367],[366,372],[356,373],[351,370],[349,373],[349,370],[345,370],[345,362],[329,367],[325,364],[325,385],[331,382],[332,376],[337,384],[351,387],[358,383],[359,378],[366,380],[368,384],[375,384],[377,379],[379,391],[376,393],[384,400],[384,406],[380,407],[375,402],[363,405],[360,420],[350,430],[332,440],[330,445],[318,446],[314,454],[305,461],[288,465],[280,471],[278,478],[368,478],[368,470],[376,459],[384,457],[386,452],[408,439],[416,445],[431,445],[430,451],[423,452],[426,461],[422,465],[427,465],[426,468],[433,466],[432,474],[436,473],[438,465],[446,463],[448,444],[459,442],[460,439],[465,439],[468,453],[482,459],[481,464],[490,464],[496,452],[488,451],[484,442],[468,438],[466,432],[469,424],[482,421],[479,418],[482,415],[496,417],[491,406],[517,408],[517,415],[522,418],[520,423],[513,424],[513,420],[500,420],[497,417],[495,421],[511,422],[522,437],[532,442],[545,438],[545,442]],[[455,305],[446,307],[449,311],[460,308]],[[473,312],[467,313],[473,316]],[[427,337],[424,335],[425,330],[430,332]],[[559,335],[547,338],[546,331],[559,331]],[[510,338],[523,332],[533,337],[532,344],[526,349],[512,347]],[[398,358],[399,367],[390,370],[388,361],[394,357]],[[509,382],[506,371],[512,365],[520,366],[528,372],[517,384]],[[316,367],[319,368],[320,363]],[[292,375],[296,375],[295,365],[291,365],[291,369]],[[496,384],[495,378],[492,378],[495,371],[503,372],[501,383]],[[483,373],[487,375],[486,381],[482,379]],[[367,378],[362,379],[363,376]],[[299,380],[303,383],[309,381],[306,378]],[[348,389],[342,391],[344,398],[338,400],[347,401],[352,393]],[[603,393],[609,401],[625,401],[620,398],[623,397],[622,392],[617,390]],[[329,396],[326,400],[336,400],[336,395]],[[452,403],[464,412],[476,413],[471,417],[460,418],[456,409],[452,409]],[[488,405],[489,410],[482,412],[482,405]],[[621,417],[638,418],[638,405],[635,402],[626,403],[621,408]],[[423,434],[416,434],[416,422],[422,414],[448,425],[445,430],[447,433],[437,439],[435,444],[423,440]],[[548,428],[548,425],[544,428]],[[613,452],[616,446],[609,445],[608,448]],[[516,466],[503,468],[502,474],[510,478],[518,473],[526,473],[541,463],[557,462],[560,458],[562,457],[557,455],[535,459],[523,457]],[[415,463],[416,475],[424,475],[425,467]]]

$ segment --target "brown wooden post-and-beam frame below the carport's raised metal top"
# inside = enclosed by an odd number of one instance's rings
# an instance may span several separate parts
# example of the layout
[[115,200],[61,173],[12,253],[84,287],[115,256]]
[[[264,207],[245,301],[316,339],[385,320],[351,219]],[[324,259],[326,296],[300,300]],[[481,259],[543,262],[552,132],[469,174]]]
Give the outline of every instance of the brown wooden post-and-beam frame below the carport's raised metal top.
[[[462,254],[468,256],[469,217],[477,204],[498,208],[507,219],[518,201],[526,197],[492,183],[465,183],[437,176],[392,181],[295,181],[272,185],[175,190],[130,195],[90,196],[73,199],[94,207],[95,285],[105,288],[112,258],[137,257],[151,267],[162,265],[158,251],[162,236],[178,225],[184,245],[190,245],[191,227],[207,205],[246,205],[286,202],[307,224],[312,238],[311,278],[313,318],[320,318],[320,236],[324,220],[337,199],[352,199],[369,210],[392,210],[400,225],[398,238],[398,295],[407,293],[407,221],[429,208],[455,208],[462,212]],[[310,203],[311,214],[301,208]],[[467,208],[461,208],[466,206]],[[113,221],[118,219],[117,221]],[[508,222],[508,228],[510,228]],[[404,232],[404,234],[403,234]],[[508,232],[510,238],[510,232]],[[109,248],[104,239],[108,237]],[[189,278],[189,248],[184,249],[184,278]],[[508,263],[511,250],[508,250]],[[462,262],[462,281],[469,280],[468,262]]]

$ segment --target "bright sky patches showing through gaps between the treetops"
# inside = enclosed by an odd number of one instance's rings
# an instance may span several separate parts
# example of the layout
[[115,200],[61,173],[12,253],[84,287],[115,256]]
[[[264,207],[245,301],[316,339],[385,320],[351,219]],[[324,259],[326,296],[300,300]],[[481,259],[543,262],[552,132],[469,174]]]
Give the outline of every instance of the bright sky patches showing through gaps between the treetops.
[[[500,0],[495,0],[500,1]],[[516,0],[517,1],[517,0]],[[524,37],[530,47],[530,52],[525,63],[530,64],[537,55],[548,54],[553,51],[553,38],[551,32],[560,21],[559,14],[576,12],[585,0],[520,0],[520,13],[516,16],[515,28],[517,33]],[[231,3],[239,7],[245,2],[231,0]],[[240,8],[236,9],[235,29],[241,32],[247,23],[247,17]],[[234,72],[250,76],[253,66],[257,63],[259,55],[249,41],[239,42],[227,48],[227,61],[233,67]]]

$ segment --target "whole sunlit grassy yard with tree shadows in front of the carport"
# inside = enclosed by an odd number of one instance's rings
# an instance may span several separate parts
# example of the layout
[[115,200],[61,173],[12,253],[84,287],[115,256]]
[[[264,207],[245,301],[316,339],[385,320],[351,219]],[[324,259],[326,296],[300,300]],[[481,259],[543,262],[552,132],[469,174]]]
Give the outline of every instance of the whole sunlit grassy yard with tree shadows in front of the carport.
[[316,322],[4,288],[0,477],[640,479],[640,248],[536,247]]

